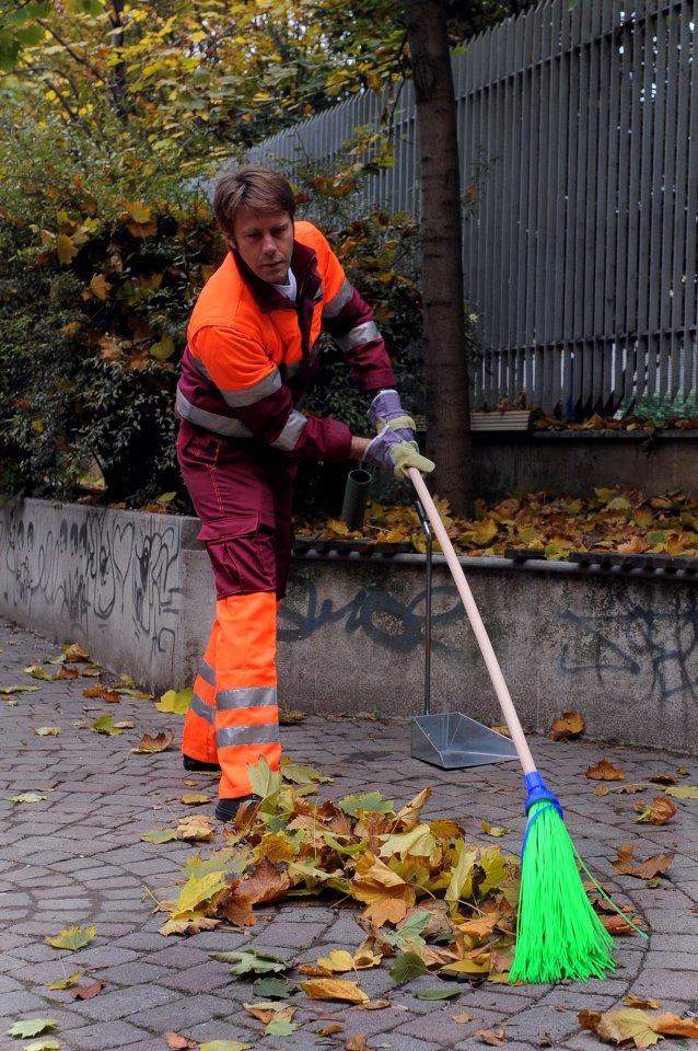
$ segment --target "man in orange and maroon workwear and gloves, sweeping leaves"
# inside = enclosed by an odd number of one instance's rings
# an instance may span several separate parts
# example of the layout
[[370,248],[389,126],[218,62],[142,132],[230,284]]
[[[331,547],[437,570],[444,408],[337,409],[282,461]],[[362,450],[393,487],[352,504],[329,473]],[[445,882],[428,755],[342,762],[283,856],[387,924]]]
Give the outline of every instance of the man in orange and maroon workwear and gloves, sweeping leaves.
[[[182,751],[187,770],[220,766],[216,815],[228,820],[257,799],[248,765],[264,757],[276,770],[281,757],[276,617],[298,462],[364,460],[399,478],[433,463],[419,453],[370,308],[321,231],[295,221],[289,182],[259,165],[226,172],[213,210],[230,252],[195,304],[176,413],[177,458],[217,603]],[[323,328],[371,399],[373,438],[301,412]]]

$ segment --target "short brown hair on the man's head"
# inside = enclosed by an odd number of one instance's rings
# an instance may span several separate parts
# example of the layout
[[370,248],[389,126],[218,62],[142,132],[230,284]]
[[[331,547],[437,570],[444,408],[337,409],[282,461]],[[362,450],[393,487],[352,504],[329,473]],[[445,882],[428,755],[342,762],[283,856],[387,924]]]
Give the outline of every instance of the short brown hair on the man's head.
[[242,208],[261,215],[286,211],[293,219],[295,197],[291,184],[279,172],[261,164],[223,172],[213,190],[213,213],[224,234],[234,236],[235,218]]

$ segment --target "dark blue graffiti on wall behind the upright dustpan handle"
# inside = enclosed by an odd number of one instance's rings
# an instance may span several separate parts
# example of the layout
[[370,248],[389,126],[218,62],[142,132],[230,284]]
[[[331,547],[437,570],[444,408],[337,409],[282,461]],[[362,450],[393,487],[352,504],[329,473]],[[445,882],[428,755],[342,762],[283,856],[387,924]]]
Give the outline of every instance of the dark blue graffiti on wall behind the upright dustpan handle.
[[[317,586],[310,577],[294,577],[292,586],[294,608],[284,603],[279,611],[279,642],[300,642],[327,625],[344,623],[348,635],[361,631],[371,642],[385,649],[405,652],[423,644],[424,591],[402,602],[383,588],[360,589],[353,598],[336,605],[333,599],[319,599]],[[433,599],[443,596],[451,597],[452,602],[449,609],[433,613],[434,634],[441,625],[451,624],[463,616],[455,588],[433,588]],[[299,605],[301,609],[298,609]],[[435,650],[452,648],[434,636],[432,647]]]

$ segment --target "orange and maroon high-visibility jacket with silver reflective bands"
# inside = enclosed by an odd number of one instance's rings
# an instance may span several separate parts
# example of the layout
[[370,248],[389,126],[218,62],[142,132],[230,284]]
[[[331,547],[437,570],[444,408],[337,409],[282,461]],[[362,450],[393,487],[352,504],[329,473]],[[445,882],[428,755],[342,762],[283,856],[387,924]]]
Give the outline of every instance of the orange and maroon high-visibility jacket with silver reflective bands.
[[345,351],[360,390],[393,386],[395,377],[371,309],[310,222],[295,223],[291,269],[294,303],[229,253],[196,302],[176,409],[205,430],[295,459],[342,460],[349,428],[299,408],[317,370],[321,328]]

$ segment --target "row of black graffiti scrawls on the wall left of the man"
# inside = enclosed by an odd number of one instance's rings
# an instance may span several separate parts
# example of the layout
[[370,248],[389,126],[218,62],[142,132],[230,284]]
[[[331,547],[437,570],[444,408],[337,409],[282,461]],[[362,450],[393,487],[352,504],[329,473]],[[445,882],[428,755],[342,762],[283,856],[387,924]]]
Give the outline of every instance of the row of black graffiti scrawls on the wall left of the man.
[[[45,512],[44,512],[45,513]],[[50,524],[31,509],[0,516],[2,577],[10,609],[44,616],[86,635],[129,624],[152,654],[174,646],[179,601],[179,534],[150,516],[126,518],[95,508],[69,509]],[[55,523],[55,524],[54,524]],[[38,603],[38,604],[37,604]]]

